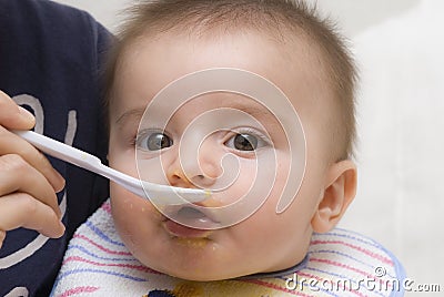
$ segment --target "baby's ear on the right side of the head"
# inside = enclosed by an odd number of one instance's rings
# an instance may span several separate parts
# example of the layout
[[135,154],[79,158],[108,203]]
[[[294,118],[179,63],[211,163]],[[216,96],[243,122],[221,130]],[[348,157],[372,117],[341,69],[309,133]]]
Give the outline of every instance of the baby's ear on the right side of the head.
[[324,196],[312,218],[314,232],[325,233],[337,224],[356,194],[356,166],[351,160],[330,166]]

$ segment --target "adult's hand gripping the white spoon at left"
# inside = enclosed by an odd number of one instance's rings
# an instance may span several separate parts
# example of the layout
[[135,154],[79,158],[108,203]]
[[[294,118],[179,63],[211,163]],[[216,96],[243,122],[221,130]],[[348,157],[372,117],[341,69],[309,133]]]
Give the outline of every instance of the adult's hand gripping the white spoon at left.
[[9,130],[30,130],[36,119],[0,91],[0,248],[8,231],[24,227],[49,237],[64,233],[56,193],[63,177],[27,141]]

